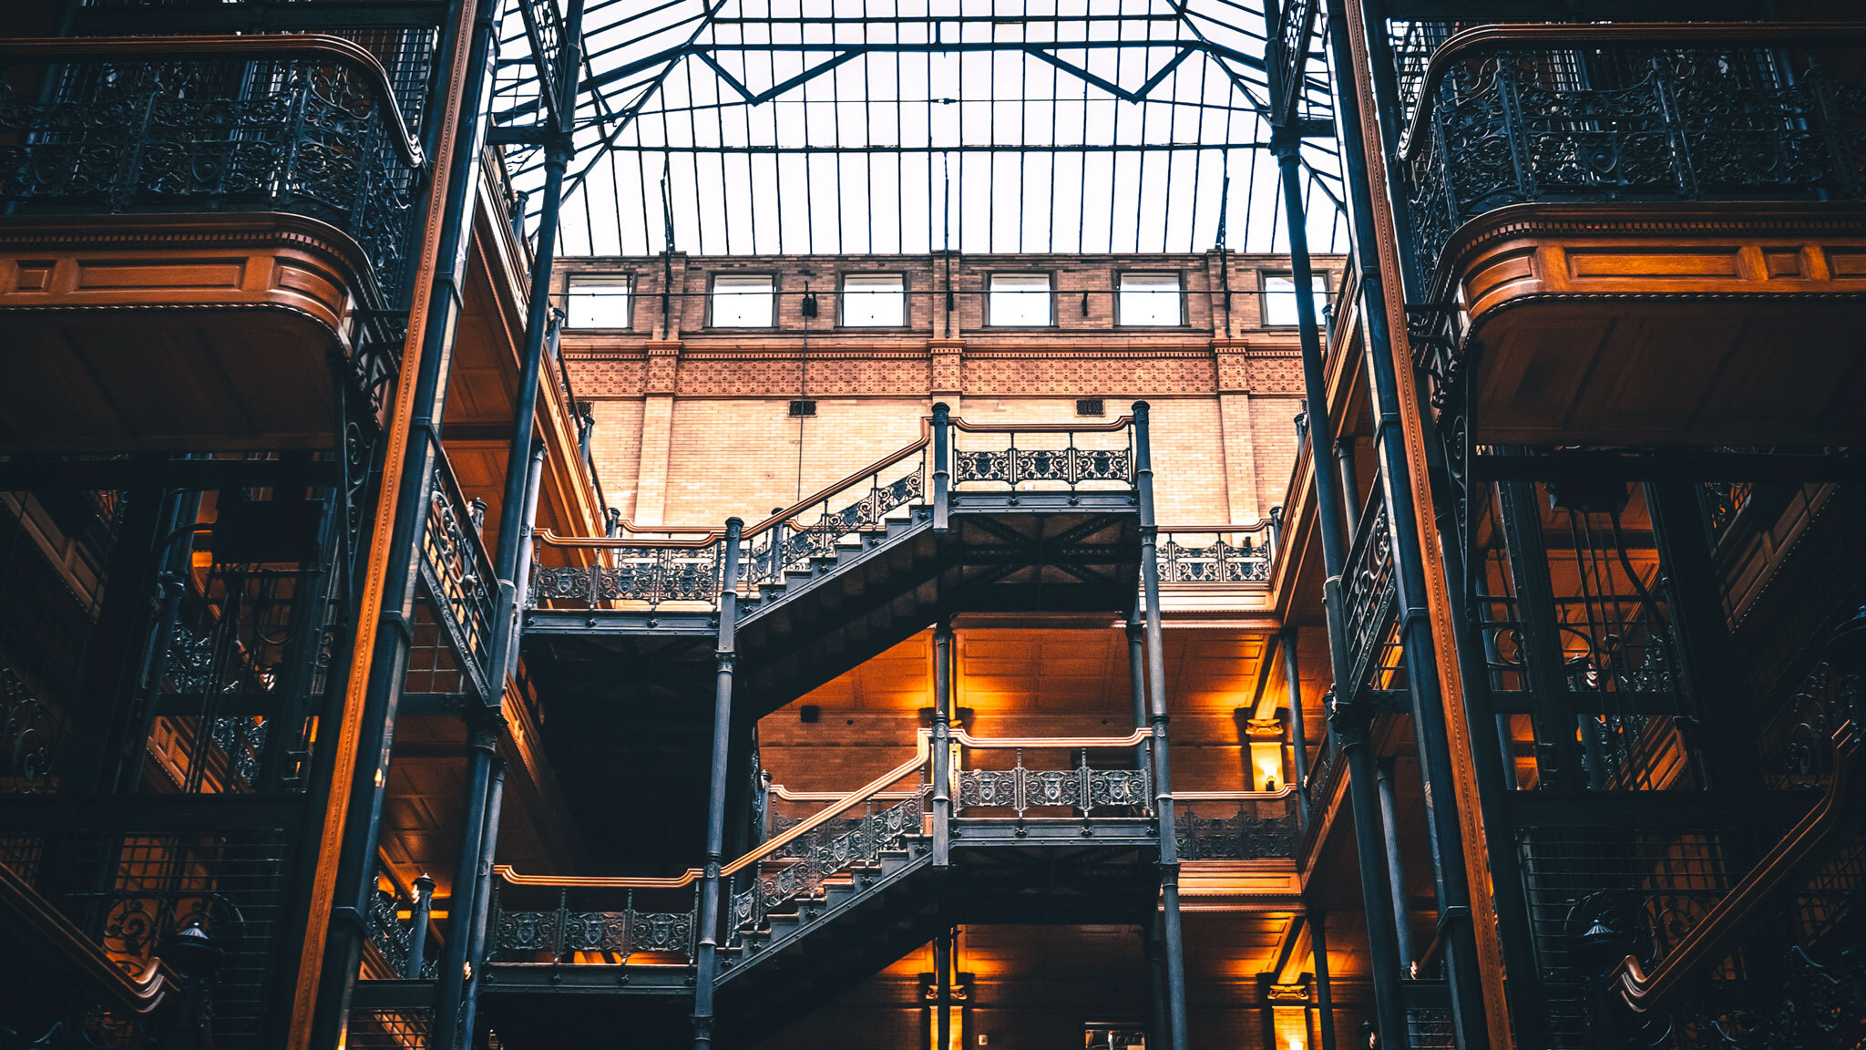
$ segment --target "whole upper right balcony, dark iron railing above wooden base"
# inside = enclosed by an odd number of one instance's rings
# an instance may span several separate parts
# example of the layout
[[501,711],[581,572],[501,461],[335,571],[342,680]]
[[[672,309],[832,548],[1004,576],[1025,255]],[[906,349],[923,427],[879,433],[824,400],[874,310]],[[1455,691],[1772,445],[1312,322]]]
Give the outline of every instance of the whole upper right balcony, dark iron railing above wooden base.
[[1700,22],[1439,47],[1401,177],[1441,404],[1476,383],[1483,443],[1859,439],[1860,45]]

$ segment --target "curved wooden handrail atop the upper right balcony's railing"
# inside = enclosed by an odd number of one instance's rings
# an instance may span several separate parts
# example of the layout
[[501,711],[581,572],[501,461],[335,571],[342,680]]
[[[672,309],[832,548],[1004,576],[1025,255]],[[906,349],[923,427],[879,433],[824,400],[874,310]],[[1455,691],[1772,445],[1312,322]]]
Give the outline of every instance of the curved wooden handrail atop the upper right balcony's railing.
[[1698,43],[1741,43],[1747,47],[1769,47],[1784,43],[1832,45],[1866,41],[1866,22],[1534,22],[1534,24],[1489,24],[1454,34],[1439,45],[1426,62],[1426,75],[1420,78],[1418,105],[1413,121],[1400,138],[1400,159],[1411,161],[1426,140],[1424,127],[1431,120],[1431,108],[1439,97],[1439,82],[1446,71],[1463,62],[1467,52],[1498,50],[1508,47],[1560,49],[1560,47],[1623,47],[1640,43],[1698,45]]

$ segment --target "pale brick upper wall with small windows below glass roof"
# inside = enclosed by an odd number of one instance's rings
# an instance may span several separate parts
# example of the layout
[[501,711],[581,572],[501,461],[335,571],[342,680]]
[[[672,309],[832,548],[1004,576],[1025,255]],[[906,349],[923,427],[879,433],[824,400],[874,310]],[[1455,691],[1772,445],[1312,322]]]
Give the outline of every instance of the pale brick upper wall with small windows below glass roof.
[[[1230,267],[1226,310],[1222,271]],[[593,454],[612,506],[642,525],[756,519],[918,435],[946,400],[968,420],[1069,422],[1079,398],[1107,417],[1153,404],[1161,521],[1246,523],[1269,514],[1295,460],[1301,407],[1293,333],[1263,329],[1261,273],[1274,256],[907,256],[674,260],[670,321],[662,260],[573,260],[560,275],[627,273],[631,327],[569,329],[565,359],[595,404]],[[1120,327],[1118,275],[1179,273],[1183,327]],[[838,327],[842,275],[903,273],[905,329]],[[985,327],[993,273],[1052,273],[1056,327]],[[718,273],[778,280],[773,329],[709,329]],[[946,314],[946,288],[954,310]],[[799,312],[804,290],[819,316]],[[1086,297],[1088,312],[1082,314]],[[789,402],[815,402],[795,419]],[[1099,422],[1099,420],[1084,420]]]

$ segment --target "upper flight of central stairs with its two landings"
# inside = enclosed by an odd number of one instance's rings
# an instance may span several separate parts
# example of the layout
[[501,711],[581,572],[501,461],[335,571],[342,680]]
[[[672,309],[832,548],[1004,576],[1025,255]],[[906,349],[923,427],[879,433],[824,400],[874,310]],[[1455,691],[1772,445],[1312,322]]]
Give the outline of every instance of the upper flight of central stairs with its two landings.
[[[1011,430],[937,415],[907,447],[745,527],[733,768],[758,717],[944,615],[1127,613],[1142,439],[1131,419]],[[728,529],[543,534],[537,551],[524,667],[588,859],[677,871],[705,826]],[[651,747],[618,770],[616,740]]]

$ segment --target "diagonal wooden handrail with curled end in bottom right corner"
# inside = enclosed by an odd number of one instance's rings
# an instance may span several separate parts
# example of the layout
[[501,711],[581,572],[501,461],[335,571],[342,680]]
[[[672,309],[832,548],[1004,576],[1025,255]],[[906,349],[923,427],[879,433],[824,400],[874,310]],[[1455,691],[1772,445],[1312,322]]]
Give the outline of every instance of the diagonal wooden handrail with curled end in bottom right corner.
[[1859,727],[1851,721],[1834,731],[1834,775],[1827,781],[1827,794],[1789,828],[1788,835],[1756,863],[1735,889],[1704,915],[1704,921],[1685,934],[1685,940],[1664,957],[1657,970],[1646,973],[1638,958],[1631,955],[1620,960],[1620,966],[1608,975],[1608,986],[1633,1013],[1664,1009],[1694,973],[1730,955],[1730,942],[1758,919],[1775,891],[1793,878],[1816,850],[1845,830],[1853,805],[1859,802],[1859,790],[1853,787],[1859,747]]

